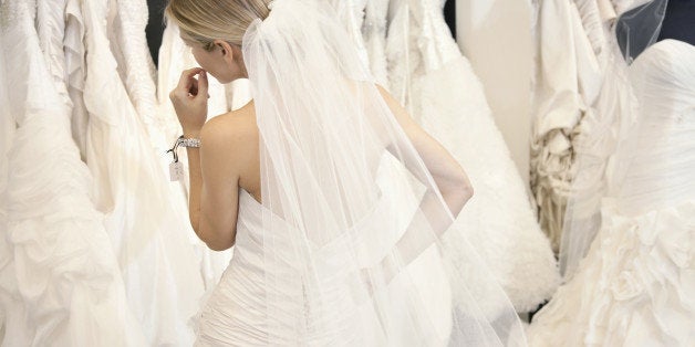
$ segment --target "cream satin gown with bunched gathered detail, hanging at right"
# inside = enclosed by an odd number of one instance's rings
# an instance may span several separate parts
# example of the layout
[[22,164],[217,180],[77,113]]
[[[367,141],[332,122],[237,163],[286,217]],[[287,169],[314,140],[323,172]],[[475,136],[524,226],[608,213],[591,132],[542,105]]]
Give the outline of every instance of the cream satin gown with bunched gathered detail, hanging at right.
[[603,20],[593,1],[538,4],[539,69],[533,95],[531,189],[556,252],[572,179],[581,119],[591,117],[603,76]]

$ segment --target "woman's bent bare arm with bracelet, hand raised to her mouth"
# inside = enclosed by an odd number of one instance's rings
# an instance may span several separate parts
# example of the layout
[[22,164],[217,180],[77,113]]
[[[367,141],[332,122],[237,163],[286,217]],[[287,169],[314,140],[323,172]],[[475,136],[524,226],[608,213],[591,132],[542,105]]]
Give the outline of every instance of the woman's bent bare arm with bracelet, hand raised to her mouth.
[[[198,80],[195,76],[198,75]],[[239,168],[232,160],[238,136],[207,119],[207,74],[201,69],[184,71],[169,98],[184,129],[184,137],[200,138],[200,148],[187,148],[189,168],[188,217],[196,234],[208,248],[222,251],[236,240]]]

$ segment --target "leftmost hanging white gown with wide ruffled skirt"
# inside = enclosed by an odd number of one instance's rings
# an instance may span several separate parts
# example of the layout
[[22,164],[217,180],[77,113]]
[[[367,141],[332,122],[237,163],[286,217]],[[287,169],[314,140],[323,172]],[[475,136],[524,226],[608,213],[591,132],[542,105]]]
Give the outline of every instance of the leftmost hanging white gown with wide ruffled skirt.
[[[19,125],[0,189],[7,203],[2,345],[143,346],[103,214],[90,198],[90,172],[71,136],[71,105],[60,74],[62,4],[0,4],[2,115]],[[37,10],[41,40],[33,27]]]

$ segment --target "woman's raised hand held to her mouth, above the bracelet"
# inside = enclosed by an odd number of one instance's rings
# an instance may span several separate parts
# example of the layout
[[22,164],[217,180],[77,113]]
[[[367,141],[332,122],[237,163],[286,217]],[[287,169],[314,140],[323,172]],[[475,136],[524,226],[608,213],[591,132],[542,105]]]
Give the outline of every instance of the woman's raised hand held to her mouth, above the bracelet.
[[200,67],[185,70],[178,85],[169,93],[184,134],[197,135],[200,132],[207,119],[208,97],[208,78],[205,70]]

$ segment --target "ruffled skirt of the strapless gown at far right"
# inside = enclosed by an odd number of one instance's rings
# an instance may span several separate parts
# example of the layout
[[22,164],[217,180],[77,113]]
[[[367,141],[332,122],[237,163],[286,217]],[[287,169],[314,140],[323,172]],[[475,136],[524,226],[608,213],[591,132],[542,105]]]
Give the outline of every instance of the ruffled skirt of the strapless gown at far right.
[[621,214],[531,324],[535,346],[688,346],[695,340],[695,201]]

